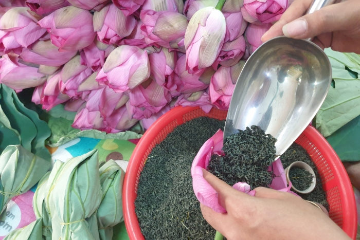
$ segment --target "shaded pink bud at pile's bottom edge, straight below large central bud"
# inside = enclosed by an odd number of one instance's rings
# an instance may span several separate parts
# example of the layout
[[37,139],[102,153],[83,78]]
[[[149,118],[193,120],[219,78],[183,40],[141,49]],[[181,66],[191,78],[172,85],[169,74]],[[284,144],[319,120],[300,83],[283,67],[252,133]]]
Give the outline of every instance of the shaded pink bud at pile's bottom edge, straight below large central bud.
[[110,117],[106,120],[106,132],[117,133],[120,131],[128,130],[138,122],[137,119],[132,119],[129,116],[126,106],[116,109]]

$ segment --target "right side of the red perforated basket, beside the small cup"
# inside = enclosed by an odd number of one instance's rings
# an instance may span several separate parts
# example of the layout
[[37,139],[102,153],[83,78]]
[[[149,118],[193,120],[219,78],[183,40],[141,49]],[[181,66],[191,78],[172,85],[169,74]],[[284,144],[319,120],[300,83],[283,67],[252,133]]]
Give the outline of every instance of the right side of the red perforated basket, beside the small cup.
[[356,239],[355,197],[343,163],[313,126],[308,126],[296,142],[307,150],[319,171],[322,188],[327,194],[330,218],[352,239]]

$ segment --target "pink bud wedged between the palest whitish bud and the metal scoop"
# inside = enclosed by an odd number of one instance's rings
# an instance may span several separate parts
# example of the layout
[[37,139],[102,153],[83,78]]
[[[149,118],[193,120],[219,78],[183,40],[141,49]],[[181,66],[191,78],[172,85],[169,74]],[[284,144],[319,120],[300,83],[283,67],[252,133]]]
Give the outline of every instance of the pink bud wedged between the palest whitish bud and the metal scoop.
[[225,42],[216,62],[222,66],[231,67],[244,56],[245,48],[246,42],[242,35],[231,42]]

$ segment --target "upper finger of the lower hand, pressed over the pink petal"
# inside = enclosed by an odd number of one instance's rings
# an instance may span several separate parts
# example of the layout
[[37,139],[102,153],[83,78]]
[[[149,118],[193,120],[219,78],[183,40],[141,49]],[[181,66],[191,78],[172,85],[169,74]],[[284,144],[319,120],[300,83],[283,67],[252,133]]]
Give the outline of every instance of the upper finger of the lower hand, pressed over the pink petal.
[[225,210],[229,208],[229,201],[231,202],[231,199],[234,199],[235,196],[244,200],[250,197],[246,193],[233,189],[226,182],[215,177],[205,169],[203,169],[203,177],[211,185],[211,187],[217,191],[219,204],[225,208]]

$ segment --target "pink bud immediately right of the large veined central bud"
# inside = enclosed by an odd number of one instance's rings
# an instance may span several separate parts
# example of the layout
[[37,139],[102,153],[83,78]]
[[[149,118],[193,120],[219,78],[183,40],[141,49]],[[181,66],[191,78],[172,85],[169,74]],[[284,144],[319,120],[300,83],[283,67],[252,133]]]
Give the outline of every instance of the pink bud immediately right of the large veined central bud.
[[176,53],[165,47],[159,52],[149,54],[150,77],[160,86],[164,86],[166,78],[174,71],[176,60]]

